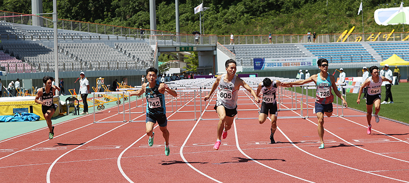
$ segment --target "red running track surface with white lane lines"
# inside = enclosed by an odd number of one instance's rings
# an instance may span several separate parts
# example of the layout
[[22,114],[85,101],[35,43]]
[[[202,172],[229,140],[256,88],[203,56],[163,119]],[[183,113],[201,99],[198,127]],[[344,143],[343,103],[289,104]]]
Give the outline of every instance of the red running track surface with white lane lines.
[[[179,93],[182,96],[182,93]],[[298,95],[300,97],[300,95]],[[203,96],[202,96],[203,97]],[[290,97],[284,106],[291,107]],[[213,98],[215,99],[215,97]],[[298,98],[300,99],[300,98]],[[305,100],[305,98],[304,98]],[[313,104],[309,98],[309,104]],[[196,118],[200,116],[196,99]],[[139,102],[141,103],[141,102]],[[180,103],[187,106],[180,106]],[[325,117],[325,148],[319,149],[317,119],[309,106],[309,118],[278,119],[276,144],[269,144],[270,121],[259,124],[257,106],[239,92],[238,119],[213,149],[218,119],[214,100],[194,120],[193,101],[178,101],[178,112],[168,112],[171,154],[164,154],[164,139],[154,128],[149,147],[144,122],[93,123],[93,115],[48,129],[0,141],[1,182],[408,182],[409,126],[373,119],[367,135],[366,117]],[[206,103],[207,104],[207,103]],[[135,103],[132,103],[133,107]],[[172,111],[167,104],[168,111]],[[304,108],[306,104],[304,103]],[[285,107],[282,109],[285,109]],[[335,107],[335,106],[334,106]],[[202,109],[205,102],[202,101]],[[120,107],[122,110],[122,106]],[[128,110],[126,104],[125,110]],[[334,108],[336,110],[336,108]],[[108,113],[108,111],[110,111]],[[131,109],[141,112],[142,108]],[[306,116],[304,110],[303,116]],[[118,121],[118,108],[96,114],[97,120]],[[280,111],[279,117],[297,116],[300,110]],[[340,111],[339,111],[340,113]],[[336,114],[336,112],[334,112]],[[365,115],[344,109],[345,116]],[[129,115],[125,119],[129,120]],[[104,119],[106,118],[106,119]],[[133,121],[145,115],[131,114]],[[185,120],[181,120],[185,119]],[[189,119],[189,120],[186,120]]]

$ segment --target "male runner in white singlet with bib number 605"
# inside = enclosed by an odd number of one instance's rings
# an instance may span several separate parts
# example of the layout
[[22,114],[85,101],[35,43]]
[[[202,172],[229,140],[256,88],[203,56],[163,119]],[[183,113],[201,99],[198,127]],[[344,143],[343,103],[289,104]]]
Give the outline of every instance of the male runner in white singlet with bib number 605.
[[243,86],[248,92],[252,93],[255,102],[259,102],[259,98],[252,88],[241,80],[240,77],[236,76],[236,61],[229,59],[224,65],[226,66],[227,74],[217,76],[212,90],[204,98],[205,101],[208,100],[216,88],[219,89],[214,107],[220,119],[217,125],[217,141],[213,146],[216,150],[220,147],[221,137],[223,136],[223,139],[227,137],[227,130],[232,127],[234,116],[237,114],[237,92],[240,86]]

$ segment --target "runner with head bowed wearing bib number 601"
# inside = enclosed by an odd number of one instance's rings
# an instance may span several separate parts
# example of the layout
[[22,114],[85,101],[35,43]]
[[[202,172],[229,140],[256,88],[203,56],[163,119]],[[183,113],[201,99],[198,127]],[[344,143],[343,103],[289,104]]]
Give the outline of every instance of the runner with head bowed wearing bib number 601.
[[267,119],[268,111],[270,111],[271,128],[270,128],[270,142],[271,144],[276,143],[274,140],[274,133],[277,129],[277,102],[276,102],[276,92],[277,86],[280,86],[281,82],[278,80],[272,81],[266,77],[263,82],[257,87],[257,96],[260,98],[260,92],[263,93],[263,102],[261,103],[259,123],[263,124]]

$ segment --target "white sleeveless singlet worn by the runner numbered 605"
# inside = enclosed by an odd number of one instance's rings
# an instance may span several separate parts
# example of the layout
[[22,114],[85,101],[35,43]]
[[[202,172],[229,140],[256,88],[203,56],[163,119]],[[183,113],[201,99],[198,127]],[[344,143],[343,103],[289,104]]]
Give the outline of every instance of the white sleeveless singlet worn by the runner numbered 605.
[[227,109],[235,109],[237,106],[237,92],[234,88],[236,82],[236,75],[234,75],[232,82],[224,82],[224,76],[221,75],[219,86],[217,86],[217,100],[216,106],[222,104]]

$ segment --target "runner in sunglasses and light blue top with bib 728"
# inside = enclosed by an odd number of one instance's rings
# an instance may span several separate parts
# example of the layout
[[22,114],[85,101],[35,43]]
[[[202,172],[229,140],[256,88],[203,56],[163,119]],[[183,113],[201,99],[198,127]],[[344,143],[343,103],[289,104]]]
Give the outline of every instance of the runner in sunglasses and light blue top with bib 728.
[[304,85],[306,83],[314,82],[316,86],[316,99],[315,99],[315,113],[318,118],[318,135],[320,136],[321,145],[320,149],[324,148],[324,113],[327,117],[332,115],[332,102],[334,101],[334,95],[332,95],[331,87],[335,92],[335,95],[342,99],[345,107],[348,107],[347,101],[339,93],[335,85],[335,77],[329,74],[328,71],[328,61],[326,59],[319,59],[317,65],[320,68],[321,72],[311,75],[308,79],[281,83],[280,86],[289,87],[292,85]]

